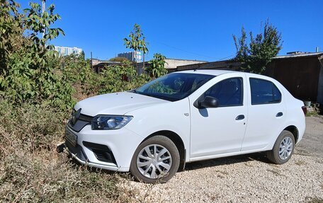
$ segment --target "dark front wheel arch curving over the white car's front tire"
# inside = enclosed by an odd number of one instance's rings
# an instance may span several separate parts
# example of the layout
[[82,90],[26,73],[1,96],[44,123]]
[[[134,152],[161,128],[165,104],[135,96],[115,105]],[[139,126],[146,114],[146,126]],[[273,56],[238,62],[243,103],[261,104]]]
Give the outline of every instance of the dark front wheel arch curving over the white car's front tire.
[[169,130],[160,130],[160,131],[157,131],[157,132],[154,132],[154,133],[150,134],[142,142],[144,142],[147,139],[149,139],[151,137],[154,137],[156,135],[162,135],[164,137],[167,137],[167,138],[171,139],[171,141],[174,142],[177,149],[179,150],[179,157],[180,157],[180,163],[179,163],[179,170],[178,171],[183,170],[185,168],[185,163],[186,163],[186,148],[185,148],[184,142],[181,139],[181,137],[179,136],[179,134],[176,134],[176,132],[172,132],[172,131],[169,131]]

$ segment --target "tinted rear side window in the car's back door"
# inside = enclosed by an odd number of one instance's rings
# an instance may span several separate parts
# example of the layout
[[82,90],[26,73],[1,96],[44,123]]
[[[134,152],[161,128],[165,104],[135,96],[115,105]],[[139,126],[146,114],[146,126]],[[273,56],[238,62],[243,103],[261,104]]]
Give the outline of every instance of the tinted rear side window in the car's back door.
[[263,79],[250,79],[251,105],[280,103],[281,93],[274,83]]

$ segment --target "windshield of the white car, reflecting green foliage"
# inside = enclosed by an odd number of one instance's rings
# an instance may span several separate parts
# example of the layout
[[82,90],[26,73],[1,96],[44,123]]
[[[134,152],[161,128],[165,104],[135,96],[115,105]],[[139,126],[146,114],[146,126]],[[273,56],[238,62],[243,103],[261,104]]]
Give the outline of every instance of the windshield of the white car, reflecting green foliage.
[[134,93],[176,101],[186,98],[215,76],[205,74],[167,74],[135,89]]

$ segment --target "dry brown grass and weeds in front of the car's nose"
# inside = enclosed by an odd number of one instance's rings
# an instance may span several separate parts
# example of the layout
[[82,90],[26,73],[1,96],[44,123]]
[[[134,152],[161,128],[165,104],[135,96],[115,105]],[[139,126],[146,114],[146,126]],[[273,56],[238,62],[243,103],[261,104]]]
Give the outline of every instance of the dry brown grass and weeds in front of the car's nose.
[[93,172],[57,153],[68,113],[0,100],[0,202],[133,202],[119,175]]

